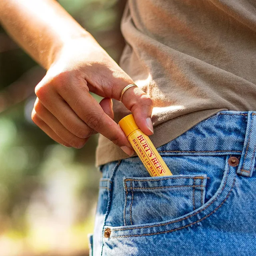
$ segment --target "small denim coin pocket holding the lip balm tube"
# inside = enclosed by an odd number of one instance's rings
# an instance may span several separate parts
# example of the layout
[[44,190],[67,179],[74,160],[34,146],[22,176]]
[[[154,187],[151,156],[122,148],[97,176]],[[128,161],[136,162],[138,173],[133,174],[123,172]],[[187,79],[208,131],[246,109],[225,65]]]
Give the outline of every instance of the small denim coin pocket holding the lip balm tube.
[[124,226],[162,222],[185,215],[205,202],[207,176],[124,178]]

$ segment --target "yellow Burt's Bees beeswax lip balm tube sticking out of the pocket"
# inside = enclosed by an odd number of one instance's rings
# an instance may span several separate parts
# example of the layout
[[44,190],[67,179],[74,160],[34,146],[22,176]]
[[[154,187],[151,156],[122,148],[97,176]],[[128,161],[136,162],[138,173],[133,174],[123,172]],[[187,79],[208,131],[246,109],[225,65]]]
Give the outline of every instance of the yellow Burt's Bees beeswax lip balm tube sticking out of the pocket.
[[172,175],[150,138],[137,126],[132,114],[122,118],[118,125],[123,130],[150,176]]

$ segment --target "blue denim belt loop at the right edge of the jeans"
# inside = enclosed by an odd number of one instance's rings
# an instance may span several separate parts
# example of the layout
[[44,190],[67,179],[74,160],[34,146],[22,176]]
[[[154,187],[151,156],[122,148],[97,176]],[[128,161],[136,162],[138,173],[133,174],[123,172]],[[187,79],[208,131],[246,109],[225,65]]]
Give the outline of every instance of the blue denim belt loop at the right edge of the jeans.
[[255,149],[256,149],[256,113],[249,111],[247,117],[246,134],[244,138],[244,147],[240,158],[240,163],[237,173],[251,177],[254,171],[255,164]]

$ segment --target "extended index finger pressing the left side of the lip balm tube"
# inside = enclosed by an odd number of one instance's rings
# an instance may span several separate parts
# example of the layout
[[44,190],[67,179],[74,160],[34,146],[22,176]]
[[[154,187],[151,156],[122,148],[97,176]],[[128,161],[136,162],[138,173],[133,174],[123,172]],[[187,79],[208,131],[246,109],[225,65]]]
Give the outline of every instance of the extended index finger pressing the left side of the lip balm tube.
[[[86,84],[85,84],[86,86]],[[68,105],[74,110],[74,112],[93,130],[96,130],[109,140],[111,140],[117,146],[120,146],[126,154],[132,156],[134,150],[130,145],[128,139],[124,135],[121,128],[112,120],[111,115],[114,116],[110,110],[110,106],[107,107],[106,100],[103,100],[102,106],[108,112],[106,114],[100,104],[85,91],[81,86],[77,86],[76,90],[60,90],[58,91],[62,98],[66,100]],[[72,93],[72,97],[70,94]]]

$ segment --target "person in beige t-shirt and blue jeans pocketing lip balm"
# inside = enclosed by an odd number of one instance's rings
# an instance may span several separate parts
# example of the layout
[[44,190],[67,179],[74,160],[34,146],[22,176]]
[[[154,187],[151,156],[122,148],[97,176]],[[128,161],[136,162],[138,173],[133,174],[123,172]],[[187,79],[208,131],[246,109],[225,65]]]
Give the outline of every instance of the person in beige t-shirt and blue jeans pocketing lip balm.
[[[2,0],[0,14],[47,70],[35,124],[75,148],[100,133],[92,255],[255,254],[254,1],[128,0],[120,66],[54,0]],[[130,113],[173,176],[134,155],[117,124]]]

